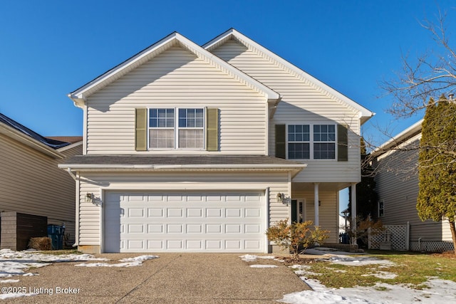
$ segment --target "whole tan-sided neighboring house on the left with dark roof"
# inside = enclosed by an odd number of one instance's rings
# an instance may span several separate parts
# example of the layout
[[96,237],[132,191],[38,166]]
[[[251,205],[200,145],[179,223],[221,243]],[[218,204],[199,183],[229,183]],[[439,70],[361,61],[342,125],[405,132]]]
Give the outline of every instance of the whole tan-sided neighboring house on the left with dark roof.
[[82,137],[43,137],[0,114],[1,248],[26,249],[48,224],[64,224],[73,245],[75,181],[57,164],[81,152]]

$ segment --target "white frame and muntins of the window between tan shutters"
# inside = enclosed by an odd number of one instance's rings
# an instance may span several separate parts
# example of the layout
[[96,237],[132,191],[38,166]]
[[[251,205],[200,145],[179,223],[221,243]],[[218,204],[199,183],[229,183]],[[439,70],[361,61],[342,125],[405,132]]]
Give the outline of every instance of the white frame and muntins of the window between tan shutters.
[[[150,147],[150,110],[152,109],[174,109],[174,127],[157,127],[156,129],[161,130],[174,130],[174,148],[151,148]],[[179,110],[180,109],[202,109],[202,127],[179,127]],[[155,129],[155,127],[153,128]],[[180,148],[179,147],[179,130],[202,130],[203,145],[201,148]],[[175,150],[191,150],[191,151],[203,151],[206,147],[206,130],[207,130],[207,119],[206,119],[206,107],[151,107],[147,108],[147,151],[175,151]]]

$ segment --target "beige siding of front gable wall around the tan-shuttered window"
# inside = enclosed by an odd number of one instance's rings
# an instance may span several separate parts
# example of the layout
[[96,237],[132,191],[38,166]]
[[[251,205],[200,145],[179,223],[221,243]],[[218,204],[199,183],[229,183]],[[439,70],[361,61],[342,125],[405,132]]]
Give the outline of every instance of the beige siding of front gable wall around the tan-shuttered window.
[[[135,108],[218,108],[219,150],[173,154],[265,154],[266,99],[179,46],[90,96],[86,154],[135,151]],[[170,154],[170,150],[153,150]]]

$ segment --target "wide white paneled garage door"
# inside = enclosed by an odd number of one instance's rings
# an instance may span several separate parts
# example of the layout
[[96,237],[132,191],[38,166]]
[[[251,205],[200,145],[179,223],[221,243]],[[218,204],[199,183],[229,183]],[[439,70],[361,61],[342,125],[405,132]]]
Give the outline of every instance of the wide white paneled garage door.
[[265,251],[264,194],[108,192],[105,252]]

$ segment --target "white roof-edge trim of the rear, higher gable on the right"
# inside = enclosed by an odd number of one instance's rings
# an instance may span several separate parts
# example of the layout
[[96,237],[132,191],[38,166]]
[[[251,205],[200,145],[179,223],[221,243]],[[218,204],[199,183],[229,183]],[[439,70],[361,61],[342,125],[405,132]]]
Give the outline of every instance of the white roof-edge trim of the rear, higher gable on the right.
[[275,53],[269,51],[267,48],[264,48],[264,46],[259,45],[258,43],[248,38],[244,34],[240,33],[239,31],[235,30],[234,28],[230,28],[228,31],[215,37],[208,43],[204,44],[202,47],[205,48],[207,51],[212,51],[218,46],[221,46],[225,42],[229,41],[230,39],[233,39],[241,43],[247,48],[254,49],[255,51],[266,56],[266,58],[270,58],[272,61],[275,61],[279,65],[290,70],[292,73],[296,74],[299,78],[306,81],[307,83],[311,83],[316,88],[320,88],[321,90],[323,90],[326,94],[332,95],[334,98],[340,100],[342,103],[345,103],[349,107],[353,108],[359,113],[361,124],[363,124],[364,122],[369,120],[369,118],[373,117],[373,115],[375,115],[375,113],[371,110],[364,108],[362,105],[346,97],[346,95],[343,95],[337,90],[331,88],[329,85],[326,85],[326,83],[323,83],[320,80],[314,78],[312,75],[306,73],[304,70],[301,70],[296,65],[293,65],[286,61],[284,58],[277,56]]

